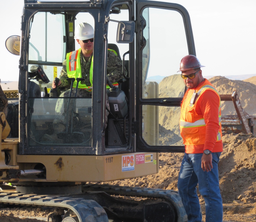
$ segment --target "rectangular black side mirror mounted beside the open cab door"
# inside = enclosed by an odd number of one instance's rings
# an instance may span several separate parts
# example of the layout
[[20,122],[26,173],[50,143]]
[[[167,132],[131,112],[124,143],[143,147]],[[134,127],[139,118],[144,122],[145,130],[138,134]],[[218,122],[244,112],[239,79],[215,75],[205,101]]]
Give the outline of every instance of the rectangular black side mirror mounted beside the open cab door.
[[135,32],[134,21],[120,21],[117,27],[116,42],[131,43],[134,38],[134,32]]

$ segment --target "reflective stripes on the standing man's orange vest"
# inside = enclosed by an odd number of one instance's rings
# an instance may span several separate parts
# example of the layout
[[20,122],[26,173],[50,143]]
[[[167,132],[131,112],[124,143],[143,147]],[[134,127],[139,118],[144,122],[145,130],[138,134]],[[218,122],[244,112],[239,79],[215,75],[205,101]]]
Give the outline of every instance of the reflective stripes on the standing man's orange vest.
[[[213,86],[211,86],[211,85],[203,85],[203,86],[197,91],[197,98],[196,98],[195,103],[194,103],[194,104],[189,104],[188,106],[190,106],[192,109],[194,109],[194,106],[195,106],[195,104],[196,104],[196,102],[197,102],[197,100],[198,100],[200,94],[201,94],[202,92],[204,92],[205,90],[207,90],[207,89],[210,89],[210,90],[212,90],[212,91],[215,91],[215,92],[218,94],[218,92],[216,91],[216,89],[215,89]],[[218,94],[218,95],[219,95],[219,94]],[[185,101],[184,101],[184,102],[185,102]],[[184,109],[185,109],[185,108],[183,108],[182,112],[185,112]],[[180,118],[180,130],[181,130],[181,132],[182,132],[182,129],[183,129],[183,128],[206,127],[204,118],[201,118],[201,119],[199,119],[199,120],[194,121],[193,123],[190,123],[190,122],[185,121],[185,119],[182,119],[182,118],[184,118],[183,116],[184,116],[184,115],[181,114],[181,118]],[[221,115],[220,115],[220,104],[219,104],[219,126],[220,126],[220,124],[221,124]],[[217,138],[216,138],[216,141],[219,141],[219,140],[221,140],[221,133],[220,133],[220,131],[218,132]]]

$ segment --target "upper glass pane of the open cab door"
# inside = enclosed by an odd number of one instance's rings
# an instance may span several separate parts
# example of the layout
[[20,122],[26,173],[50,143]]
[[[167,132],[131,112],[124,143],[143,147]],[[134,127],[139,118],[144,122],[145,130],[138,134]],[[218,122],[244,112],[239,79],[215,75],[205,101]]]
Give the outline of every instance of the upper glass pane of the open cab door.
[[181,81],[178,81],[181,86],[179,87],[180,91],[174,92],[175,96],[170,95],[169,92],[159,92],[157,95],[161,98],[183,97],[185,84],[182,82],[180,74],[177,74],[180,60],[188,54],[183,18],[177,11],[159,8],[146,8],[142,15],[146,21],[143,30],[146,42],[142,51],[142,87],[145,88],[144,84],[148,84],[144,81],[159,84],[167,76],[165,82],[177,84],[174,79],[180,78]]

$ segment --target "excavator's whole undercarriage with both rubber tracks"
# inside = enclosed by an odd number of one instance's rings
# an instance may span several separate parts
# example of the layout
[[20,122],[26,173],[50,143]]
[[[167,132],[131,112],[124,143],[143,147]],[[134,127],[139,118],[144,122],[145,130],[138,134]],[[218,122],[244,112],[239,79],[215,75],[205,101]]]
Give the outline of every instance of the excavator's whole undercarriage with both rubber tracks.
[[187,221],[177,191],[108,184],[85,184],[82,185],[81,191],[77,194],[60,196],[1,192],[0,203],[2,203],[1,207],[12,204],[15,207],[26,205],[66,210],[65,215],[58,214],[60,219],[55,217],[55,220],[45,219],[45,221]]

